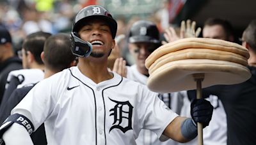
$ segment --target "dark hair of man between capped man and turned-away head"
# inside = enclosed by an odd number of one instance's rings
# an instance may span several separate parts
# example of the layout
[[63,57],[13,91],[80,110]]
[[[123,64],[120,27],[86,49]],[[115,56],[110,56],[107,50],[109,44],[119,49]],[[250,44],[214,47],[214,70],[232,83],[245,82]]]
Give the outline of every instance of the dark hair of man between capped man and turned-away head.
[[44,42],[47,38],[49,38],[52,34],[48,33],[48,32],[34,32],[32,34],[29,34],[28,36],[26,36],[26,38],[24,39],[24,42],[22,44],[22,48],[24,48],[24,50],[26,52],[31,52],[32,55],[35,58],[35,61],[38,64],[44,64],[42,62],[41,59],[41,53],[44,50]]

